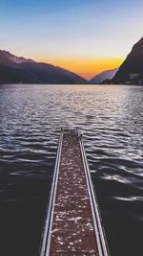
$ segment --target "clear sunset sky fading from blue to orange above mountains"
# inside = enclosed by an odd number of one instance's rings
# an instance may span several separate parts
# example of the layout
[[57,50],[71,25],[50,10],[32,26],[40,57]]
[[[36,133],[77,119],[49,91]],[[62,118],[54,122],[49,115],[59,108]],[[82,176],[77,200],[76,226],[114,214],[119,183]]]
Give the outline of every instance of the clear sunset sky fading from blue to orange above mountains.
[[142,12],[142,0],[0,0],[0,49],[89,79],[126,58]]

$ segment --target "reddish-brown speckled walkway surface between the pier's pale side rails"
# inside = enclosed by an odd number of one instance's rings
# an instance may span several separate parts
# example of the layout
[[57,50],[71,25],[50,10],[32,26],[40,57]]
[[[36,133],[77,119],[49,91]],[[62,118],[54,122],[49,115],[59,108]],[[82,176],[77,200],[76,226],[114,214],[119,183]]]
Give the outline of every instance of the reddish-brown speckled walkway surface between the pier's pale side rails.
[[64,132],[51,228],[50,255],[99,255],[76,130]]

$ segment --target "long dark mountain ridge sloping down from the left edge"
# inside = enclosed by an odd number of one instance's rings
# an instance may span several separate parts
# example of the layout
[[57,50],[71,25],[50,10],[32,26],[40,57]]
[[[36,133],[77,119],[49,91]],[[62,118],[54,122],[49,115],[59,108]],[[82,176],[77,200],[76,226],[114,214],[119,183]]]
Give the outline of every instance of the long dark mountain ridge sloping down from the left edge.
[[0,50],[0,83],[87,83],[71,71]]

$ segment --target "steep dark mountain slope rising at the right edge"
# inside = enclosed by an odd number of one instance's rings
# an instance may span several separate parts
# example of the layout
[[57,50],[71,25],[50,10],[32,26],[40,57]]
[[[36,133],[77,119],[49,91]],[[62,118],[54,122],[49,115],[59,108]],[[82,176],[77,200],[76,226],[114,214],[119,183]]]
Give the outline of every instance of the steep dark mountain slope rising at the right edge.
[[116,72],[113,83],[142,84],[143,79],[143,37],[133,45],[133,49]]

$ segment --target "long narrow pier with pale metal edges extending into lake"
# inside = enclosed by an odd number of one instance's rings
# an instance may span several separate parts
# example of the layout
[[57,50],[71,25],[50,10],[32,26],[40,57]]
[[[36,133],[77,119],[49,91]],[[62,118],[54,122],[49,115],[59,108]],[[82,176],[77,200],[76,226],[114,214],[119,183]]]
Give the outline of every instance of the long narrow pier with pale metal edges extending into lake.
[[82,136],[62,129],[40,256],[108,256]]

